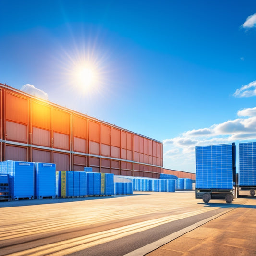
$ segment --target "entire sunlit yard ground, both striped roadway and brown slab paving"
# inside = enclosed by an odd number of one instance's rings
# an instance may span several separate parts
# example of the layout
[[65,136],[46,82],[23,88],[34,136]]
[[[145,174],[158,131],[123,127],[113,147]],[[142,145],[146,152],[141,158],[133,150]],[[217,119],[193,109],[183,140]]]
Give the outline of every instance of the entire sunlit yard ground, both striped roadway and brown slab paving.
[[1,202],[0,214],[0,255],[256,254],[249,197],[204,204],[195,191],[134,192]]

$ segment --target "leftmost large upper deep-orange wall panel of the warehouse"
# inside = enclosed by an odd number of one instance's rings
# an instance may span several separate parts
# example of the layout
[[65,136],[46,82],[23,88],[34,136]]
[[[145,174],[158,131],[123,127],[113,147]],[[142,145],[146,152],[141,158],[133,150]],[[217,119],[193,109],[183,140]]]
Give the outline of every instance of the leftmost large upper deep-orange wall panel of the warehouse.
[[[5,94],[5,118],[10,121],[28,123],[28,100],[12,93]],[[17,108],[18,106],[18,108]]]

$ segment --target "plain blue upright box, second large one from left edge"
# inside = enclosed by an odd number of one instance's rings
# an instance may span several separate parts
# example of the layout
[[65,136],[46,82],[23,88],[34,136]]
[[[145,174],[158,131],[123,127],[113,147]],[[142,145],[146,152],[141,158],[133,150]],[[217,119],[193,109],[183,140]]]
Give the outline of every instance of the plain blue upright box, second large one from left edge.
[[50,163],[35,163],[35,198],[55,198],[56,166]]

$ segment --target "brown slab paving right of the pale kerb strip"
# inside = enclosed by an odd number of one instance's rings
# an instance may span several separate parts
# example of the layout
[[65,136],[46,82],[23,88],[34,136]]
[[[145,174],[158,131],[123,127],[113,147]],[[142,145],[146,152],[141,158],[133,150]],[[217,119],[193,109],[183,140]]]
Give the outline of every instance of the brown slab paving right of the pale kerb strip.
[[256,199],[187,232],[147,256],[253,256],[256,255]]

